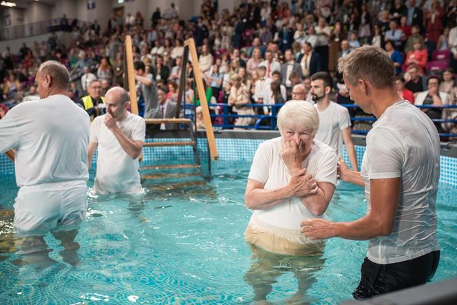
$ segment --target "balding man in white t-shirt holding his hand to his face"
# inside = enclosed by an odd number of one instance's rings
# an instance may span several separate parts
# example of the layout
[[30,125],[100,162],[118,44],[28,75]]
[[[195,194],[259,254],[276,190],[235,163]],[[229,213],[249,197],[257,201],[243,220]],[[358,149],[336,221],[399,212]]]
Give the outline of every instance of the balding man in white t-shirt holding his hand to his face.
[[105,94],[106,114],[92,123],[89,139],[89,164],[98,146],[94,193],[142,193],[138,173],[145,120],[127,111],[129,94],[112,87]]

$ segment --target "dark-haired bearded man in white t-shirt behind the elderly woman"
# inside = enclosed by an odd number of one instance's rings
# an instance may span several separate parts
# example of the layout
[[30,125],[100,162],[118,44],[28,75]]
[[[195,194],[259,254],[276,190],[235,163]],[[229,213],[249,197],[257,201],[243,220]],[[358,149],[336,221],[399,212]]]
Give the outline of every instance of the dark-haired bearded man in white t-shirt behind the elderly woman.
[[332,91],[332,76],[328,72],[317,72],[311,76],[311,97],[315,101],[314,106],[319,112],[319,130],[316,139],[332,147],[337,156],[343,154],[343,140],[346,145],[346,153],[356,170],[357,155],[351,136],[351,120],[348,109],[330,101]]

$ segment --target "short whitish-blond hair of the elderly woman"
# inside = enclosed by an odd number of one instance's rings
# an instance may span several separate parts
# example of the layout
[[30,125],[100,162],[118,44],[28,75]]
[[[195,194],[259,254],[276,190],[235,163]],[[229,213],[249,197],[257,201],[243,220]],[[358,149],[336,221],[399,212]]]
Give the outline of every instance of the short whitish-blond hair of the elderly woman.
[[319,129],[319,113],[316,107],[306,101],[288,101],[277,114],[277,127],[282,135],[282,129],[293,126],[309,130],[312,136],[315,136]]

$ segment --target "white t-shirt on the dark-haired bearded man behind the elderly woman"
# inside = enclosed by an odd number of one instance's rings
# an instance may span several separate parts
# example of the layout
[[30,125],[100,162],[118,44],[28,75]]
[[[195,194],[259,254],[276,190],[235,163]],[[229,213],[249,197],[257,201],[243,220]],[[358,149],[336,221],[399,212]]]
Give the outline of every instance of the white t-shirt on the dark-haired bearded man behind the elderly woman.
[[[317,104],[314,106],[317,109]],[[342,154],[343,134],[341,130],[350,127],[350,125],[351,119],[348,109],[337,103],[330,102],[330,105],[323,112],[319,112],[319,129],[315,139],[332,147],[337,155]]]

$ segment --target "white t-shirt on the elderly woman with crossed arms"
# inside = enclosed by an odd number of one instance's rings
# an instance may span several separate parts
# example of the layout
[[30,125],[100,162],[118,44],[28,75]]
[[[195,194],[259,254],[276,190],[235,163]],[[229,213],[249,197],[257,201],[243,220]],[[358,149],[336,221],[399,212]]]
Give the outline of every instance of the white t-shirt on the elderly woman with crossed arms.
[[[290,181],[290,173],[281,158],[282,138],[266,140],[255,152],[249,179],[264,183],[264,189],[279,189]],[[337,155],[334,150],[314,140],[310,154],[302,163],[317,182],[337,184]],[[266,210],[255,210],[258,220],[284,229],[300,229],[300,222],[307,218],[323,218],[312,215],[298,197],[288,198],[281,204]]]

